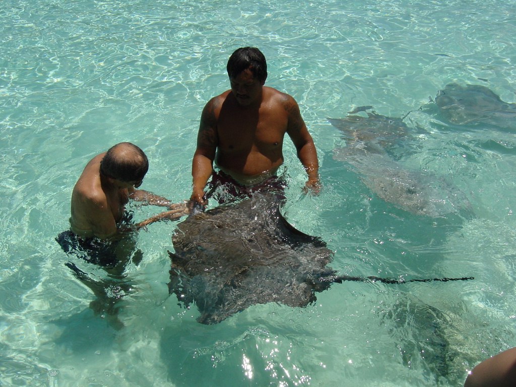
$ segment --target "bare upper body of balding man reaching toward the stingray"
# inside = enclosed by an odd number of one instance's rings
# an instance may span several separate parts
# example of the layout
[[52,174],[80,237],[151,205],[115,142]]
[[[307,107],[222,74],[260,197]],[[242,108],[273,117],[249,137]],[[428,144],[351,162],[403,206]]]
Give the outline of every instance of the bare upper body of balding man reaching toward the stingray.
[[117,227],[117,223],[122,220],[129,199],[171,210],[144,220],[133,229],[185,215],[185,204],[172,204],[152,192],[135,189],[141,185],[148,169],[147,156],[130,142],[116,144],[107,152],[93,157],[72,192],[71,231],[82,239],[106,239],[124,231]]

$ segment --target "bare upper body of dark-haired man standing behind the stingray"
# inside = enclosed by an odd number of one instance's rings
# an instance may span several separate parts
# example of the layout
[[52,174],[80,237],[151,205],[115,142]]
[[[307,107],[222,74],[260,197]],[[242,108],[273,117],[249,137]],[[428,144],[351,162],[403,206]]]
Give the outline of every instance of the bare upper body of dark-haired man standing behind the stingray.
[[193,203],[206,205],[204,187],[213,162],[237,184],[249,186],[276,174],[283,164],[283,137],[294,142],[308,173],[305,187],[319,189],[312,136],[292,96],[264,86],[267,63],[260,50],[244,47],[228,61],[231,90],[212,98],[202,111],[193,155]]

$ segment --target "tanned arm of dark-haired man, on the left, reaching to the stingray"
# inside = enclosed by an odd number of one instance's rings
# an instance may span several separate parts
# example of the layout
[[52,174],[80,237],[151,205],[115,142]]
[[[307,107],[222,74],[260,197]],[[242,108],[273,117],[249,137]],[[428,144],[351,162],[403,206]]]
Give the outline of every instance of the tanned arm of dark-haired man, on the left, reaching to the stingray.
[[213,160],[217,151],[216,104],[217,97],[210,100],[202,110],[197,149],[192,160],[193,191],[190,200],[201,205],[207,204],[207,200],[204,199],[204,187],[212,175]]

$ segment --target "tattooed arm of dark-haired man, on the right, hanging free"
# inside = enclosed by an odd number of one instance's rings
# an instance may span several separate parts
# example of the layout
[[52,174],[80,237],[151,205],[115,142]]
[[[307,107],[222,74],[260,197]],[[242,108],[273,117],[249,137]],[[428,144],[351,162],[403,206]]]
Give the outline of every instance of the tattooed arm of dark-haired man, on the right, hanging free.
[[292,139],[297,150],[297,157],[308,174],[305,187],[317,195],[320,190],[319,161],[314,140],[308,132],[307,125],[301,117],[299,106],[292,96],[288,96],[284,106],[288,114],[287,134]]

